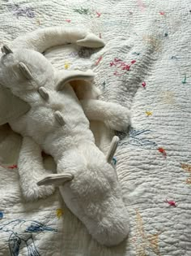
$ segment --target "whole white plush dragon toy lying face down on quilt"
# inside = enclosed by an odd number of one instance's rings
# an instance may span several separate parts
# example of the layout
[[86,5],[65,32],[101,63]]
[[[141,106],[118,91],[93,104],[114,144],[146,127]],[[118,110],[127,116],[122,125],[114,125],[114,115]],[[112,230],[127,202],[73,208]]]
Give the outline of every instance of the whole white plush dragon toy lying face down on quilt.
[[[129,233],[129,215],[111,164],[118,138],[112,138],[105,155],[95,144],[89,120],[121,131],[129,126],[129,110],[94,98],[79,100],[78,90],[86,94],[88,84],[72,87],[70,81],[92,80],[93,72],[56,71],[40,54],[66,43],[104,46],[92,33],[62,27],[39,29],[2,46],[0,84],[30,106],[9,120],[23,136],[18,162],[23,195],[28,200],[45,197],[53,193],[53,185],[59,186],[66,206],[91,236],[100,244],[117,245]],[[42,150],[53,156],[57,173],[45,173]]]

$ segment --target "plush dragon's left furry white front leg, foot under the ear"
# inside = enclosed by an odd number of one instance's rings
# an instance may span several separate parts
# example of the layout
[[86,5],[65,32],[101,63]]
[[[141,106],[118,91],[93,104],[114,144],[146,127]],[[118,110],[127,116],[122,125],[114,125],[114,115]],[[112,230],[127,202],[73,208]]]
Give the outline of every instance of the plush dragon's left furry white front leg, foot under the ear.
[[36,182],[47,175],[43,166],[40,146],[30,137],[23,137],[23,144],[19,154],[18,169],[20,187],[23,197],[27,201],[48,197],[54,192],[54,187],[41,186]]

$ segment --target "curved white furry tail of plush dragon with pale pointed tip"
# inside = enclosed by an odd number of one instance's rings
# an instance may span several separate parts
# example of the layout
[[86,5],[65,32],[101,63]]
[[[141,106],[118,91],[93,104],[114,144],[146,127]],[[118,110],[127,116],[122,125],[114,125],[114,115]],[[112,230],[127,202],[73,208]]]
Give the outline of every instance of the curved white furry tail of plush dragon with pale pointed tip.
[[100,48],[104,46],[104,41],[95,34],[78,28],[50,27],[39,28],[33,32],[17,37],[11,48],[27,48],[39,51],[40,53],[53,46],[74,43],[79,46]]

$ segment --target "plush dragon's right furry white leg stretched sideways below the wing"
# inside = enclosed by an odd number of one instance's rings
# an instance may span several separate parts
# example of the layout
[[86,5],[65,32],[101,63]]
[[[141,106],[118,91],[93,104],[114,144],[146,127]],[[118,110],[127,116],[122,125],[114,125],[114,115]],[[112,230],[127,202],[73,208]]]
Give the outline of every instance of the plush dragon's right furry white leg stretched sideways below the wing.
[[130,111],[117,103],[100,100],[81,101],[83,111],[89,120],[104,122],[108,128],[125,131],[130,124]]

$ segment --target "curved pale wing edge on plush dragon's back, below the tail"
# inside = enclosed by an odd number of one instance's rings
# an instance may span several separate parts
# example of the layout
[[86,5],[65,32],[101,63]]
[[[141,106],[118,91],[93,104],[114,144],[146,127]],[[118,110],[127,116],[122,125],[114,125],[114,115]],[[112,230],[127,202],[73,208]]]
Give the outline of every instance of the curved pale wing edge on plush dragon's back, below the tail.
[[87,72],[82,72],[79,70],[74,71],[62,71],[56,73],[56,89],[60,91],[64,88],[66,83],[73,80],[92,80],[94,78],[94,72],[87,70]]

